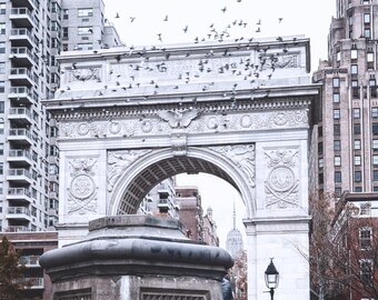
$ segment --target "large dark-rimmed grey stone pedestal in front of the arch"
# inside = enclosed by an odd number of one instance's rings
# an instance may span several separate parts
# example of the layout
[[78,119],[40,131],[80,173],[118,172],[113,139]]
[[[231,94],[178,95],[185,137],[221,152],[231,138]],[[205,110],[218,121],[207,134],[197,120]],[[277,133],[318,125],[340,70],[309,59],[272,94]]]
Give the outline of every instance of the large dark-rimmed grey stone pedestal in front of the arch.
[[187,239],[178,220],[117,216],[91,221],[84,240],[44,253],[40,264],[54,300],[221,300],[220,279],[233,262]]

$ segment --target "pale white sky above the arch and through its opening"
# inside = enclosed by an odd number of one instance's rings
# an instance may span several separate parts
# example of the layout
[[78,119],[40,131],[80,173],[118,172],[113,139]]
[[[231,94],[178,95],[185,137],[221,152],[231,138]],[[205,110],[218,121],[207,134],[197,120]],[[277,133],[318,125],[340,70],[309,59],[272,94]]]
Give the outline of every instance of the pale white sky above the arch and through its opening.
[[[327,37],[336,0],[103,0],[106,18],[126,46],[159,46],[213,39],[227,31],[229,40],[305,36],[310,39],[311,70],[327,59]],[[185,30],[186,29],[186,30]],[[180,184],[198,186],[202,207],[213,209],[220,246],[232,228],[243,232],[243,203],[236,190],[211,176],[179,177]]]

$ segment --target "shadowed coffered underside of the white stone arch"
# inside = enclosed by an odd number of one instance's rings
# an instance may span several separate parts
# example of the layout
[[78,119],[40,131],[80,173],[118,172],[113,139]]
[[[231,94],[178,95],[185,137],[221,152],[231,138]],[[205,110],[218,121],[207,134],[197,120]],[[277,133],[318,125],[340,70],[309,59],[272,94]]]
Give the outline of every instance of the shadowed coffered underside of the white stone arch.
[[133,178],[123,192],[117,214],[137,213],[146,194],[162,180],[179,173],[197,174],[200,172],[221,178],[239,191],[229,174],[216,164],[199,158],[172,157],[149,166]]

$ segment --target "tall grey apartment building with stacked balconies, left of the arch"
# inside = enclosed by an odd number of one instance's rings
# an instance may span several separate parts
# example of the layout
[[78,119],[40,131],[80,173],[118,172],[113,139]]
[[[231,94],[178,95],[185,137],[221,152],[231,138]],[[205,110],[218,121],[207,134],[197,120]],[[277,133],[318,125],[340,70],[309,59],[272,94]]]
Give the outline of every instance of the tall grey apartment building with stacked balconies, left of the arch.
[[0,231],[57,220],[56,128],[41,104],[59,87],[56,56],[117,44],[102,0],[0,2]]

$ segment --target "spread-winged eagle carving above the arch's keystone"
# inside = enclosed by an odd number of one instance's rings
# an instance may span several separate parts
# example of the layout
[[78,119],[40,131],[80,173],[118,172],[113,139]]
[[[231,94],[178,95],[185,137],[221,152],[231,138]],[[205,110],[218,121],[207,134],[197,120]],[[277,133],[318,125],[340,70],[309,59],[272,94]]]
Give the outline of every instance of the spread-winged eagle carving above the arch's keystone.
[[200,114],[198,109],[180,109],[159,111],[158,116],[171,128],[187,128]]

